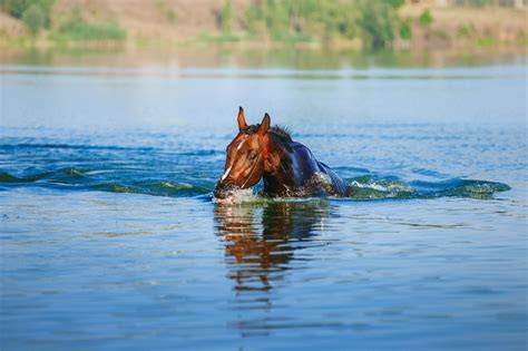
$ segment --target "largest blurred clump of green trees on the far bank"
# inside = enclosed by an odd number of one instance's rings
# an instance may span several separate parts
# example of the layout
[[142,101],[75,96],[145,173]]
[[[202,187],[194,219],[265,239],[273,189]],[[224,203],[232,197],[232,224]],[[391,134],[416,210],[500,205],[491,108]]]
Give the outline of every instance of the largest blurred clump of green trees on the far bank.
[[273,39],[361,38],[365,47],[385,47],[410,37],[410,23],[398,17],[403,0],[253,0],[244,17],[251,33]]

